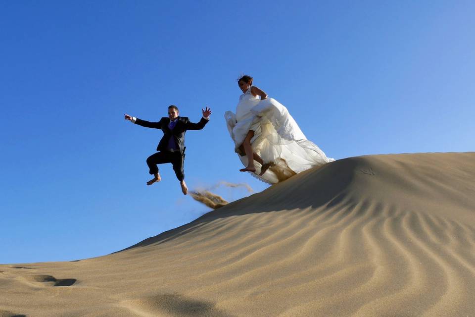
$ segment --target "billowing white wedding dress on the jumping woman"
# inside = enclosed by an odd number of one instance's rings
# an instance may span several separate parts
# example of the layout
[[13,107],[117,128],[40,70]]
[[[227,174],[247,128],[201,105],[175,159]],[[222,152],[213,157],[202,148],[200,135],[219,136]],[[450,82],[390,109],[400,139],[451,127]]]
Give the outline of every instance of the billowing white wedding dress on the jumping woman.
[[252,150],[264,164],[270,163],[270,167],[259,176],[261,164],[254,161],[256,171],[251,174],[268,184],[334,160],[327,158],[318,146],[307,140],[285,106],[272,98],[261,101],[251,94],[251,87],[239,96],[236,114],[226,111],[224,117],[235,142],[235,151],[244,166],[247,166],[247,157],[239,147],[247,132],[254,131]]

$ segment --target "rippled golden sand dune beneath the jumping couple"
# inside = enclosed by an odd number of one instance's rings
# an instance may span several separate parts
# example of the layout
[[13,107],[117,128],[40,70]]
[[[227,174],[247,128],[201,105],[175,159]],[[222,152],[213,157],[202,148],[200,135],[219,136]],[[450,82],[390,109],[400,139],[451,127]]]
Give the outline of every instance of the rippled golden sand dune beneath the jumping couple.
[[474,190],[475,153],[337,160],[121,252],[0,265],[0,317],[475,316]]

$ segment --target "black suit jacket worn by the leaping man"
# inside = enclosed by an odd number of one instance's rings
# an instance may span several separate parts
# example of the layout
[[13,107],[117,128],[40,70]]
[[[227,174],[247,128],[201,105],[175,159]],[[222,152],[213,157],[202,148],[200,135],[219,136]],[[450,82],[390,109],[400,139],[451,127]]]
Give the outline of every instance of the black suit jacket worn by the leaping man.
[[170,118],[167,117],[161,118],[158,122],[149,122],[137,118],[135,124],[147,128],[161,129],[163,131],[163,137],[158,143],[157,151],[167,151],[168,141],[173,137],[175,139],[175,143],[180,149],[180,153],[183,153],[183,151],[185,151],[185,133],[187,130],[201,130],[204,128],[206,123],[208,123],[208,121],[209,120],[206,120],[205,118],[201,118],[198,123],[193,123],[190,122],[188,117],[179,116],[178,122],[173,130],[168,128]]

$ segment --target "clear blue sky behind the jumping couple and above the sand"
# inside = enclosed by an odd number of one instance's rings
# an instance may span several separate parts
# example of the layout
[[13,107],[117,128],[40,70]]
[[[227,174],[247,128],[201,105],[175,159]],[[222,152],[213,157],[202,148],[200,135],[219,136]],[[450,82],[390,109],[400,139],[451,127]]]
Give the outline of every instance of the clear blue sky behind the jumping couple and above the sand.
[[[333,3],[334,2],[334,3]],[[0,263],[105,255],[190,222],[149,121],[180,107],[191,189],[240,173],[241,72],[329,157],[475,150],[473,1],[0,0]],[[228,200],[244,189],[219,188]]]

